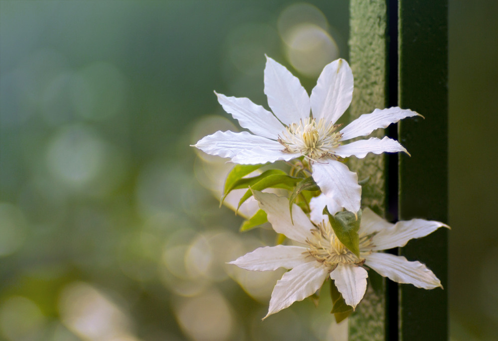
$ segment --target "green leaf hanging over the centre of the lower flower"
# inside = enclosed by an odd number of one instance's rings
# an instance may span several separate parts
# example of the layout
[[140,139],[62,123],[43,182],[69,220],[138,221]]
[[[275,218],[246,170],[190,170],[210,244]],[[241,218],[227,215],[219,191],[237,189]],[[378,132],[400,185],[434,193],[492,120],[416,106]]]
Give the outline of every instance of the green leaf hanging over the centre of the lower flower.
[[336,234],[337,238],[346,248],[360,258],[360,221],[362,219],[362,211],[358,211],[358,216],[349,211],[336,213],[335,216],[329,213],[327,206],[323,209],[323,214],[329,216],[329,222]]

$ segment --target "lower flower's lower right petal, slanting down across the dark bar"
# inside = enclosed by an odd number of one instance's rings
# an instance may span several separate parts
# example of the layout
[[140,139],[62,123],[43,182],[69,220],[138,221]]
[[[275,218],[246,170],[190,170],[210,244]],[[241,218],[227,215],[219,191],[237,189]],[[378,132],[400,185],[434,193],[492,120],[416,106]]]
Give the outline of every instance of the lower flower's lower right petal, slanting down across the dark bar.
[[423,289],[443,287],[436,275],[419,261],[408,261],[403,256],[379,252],[374,252],[365,259],[366,265],[395,282],[409,283]]

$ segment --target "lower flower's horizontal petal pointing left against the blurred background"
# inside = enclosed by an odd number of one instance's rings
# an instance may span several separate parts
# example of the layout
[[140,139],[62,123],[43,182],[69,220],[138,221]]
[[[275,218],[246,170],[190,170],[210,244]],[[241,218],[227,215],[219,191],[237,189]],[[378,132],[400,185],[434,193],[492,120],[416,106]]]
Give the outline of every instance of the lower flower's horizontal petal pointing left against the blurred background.
[[309,262],[307,249],[300,246],[266,246],[257,248],[253,252],[239,257],[229,264],[253,271],[271,271],[279,267],[292,269],[300,264]]

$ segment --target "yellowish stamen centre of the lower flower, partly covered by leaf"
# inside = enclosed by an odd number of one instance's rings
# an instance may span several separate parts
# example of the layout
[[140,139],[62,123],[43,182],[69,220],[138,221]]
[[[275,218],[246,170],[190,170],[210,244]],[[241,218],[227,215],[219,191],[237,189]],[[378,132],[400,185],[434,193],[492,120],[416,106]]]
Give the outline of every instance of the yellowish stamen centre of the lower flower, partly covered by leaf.
[[[311,234],[313,238],[306,240],[308,253],[331,271],[339,263],[361,265],[365,262],[365,258],[358,258],[339,241],[329,222],[323,221]],[[371,236],[360,236],[360,256],[371,254],[372,246]]]

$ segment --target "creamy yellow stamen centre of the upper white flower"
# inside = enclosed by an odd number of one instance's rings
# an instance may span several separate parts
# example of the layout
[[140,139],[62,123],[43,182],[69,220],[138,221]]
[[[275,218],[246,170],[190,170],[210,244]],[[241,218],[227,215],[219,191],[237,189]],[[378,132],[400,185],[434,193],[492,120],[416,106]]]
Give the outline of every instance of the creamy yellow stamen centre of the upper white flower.
[[314,118],[292,123],[278,136],[278,142],[288,153],[301,153],[312,160],[334,156],[334,150],[341,145],[342,134],[337,131],[340,124],[318,122]]

